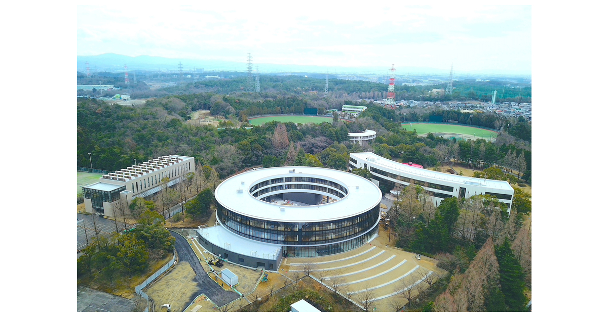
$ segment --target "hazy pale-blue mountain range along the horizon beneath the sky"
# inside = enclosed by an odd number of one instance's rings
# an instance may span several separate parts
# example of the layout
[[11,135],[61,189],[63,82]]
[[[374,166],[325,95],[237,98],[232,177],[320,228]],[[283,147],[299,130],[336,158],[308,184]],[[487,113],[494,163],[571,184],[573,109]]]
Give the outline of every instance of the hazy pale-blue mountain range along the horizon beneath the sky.
[[[244,58],[243,58],[244,60]],[[178,72],[179,62],[182,63],[184,72],[194,72],[195,69],[204,69],[204,72],[246,72],[247,64],[235,63],[230,61],[220,60],[187,60],[178,58],[165,58],[158,56],[140,55],[136,57],[120,55],[115,53],[104,53],[101,55],[93,56],[77,56],[77,69],[81,72],[86,70],[86,62],[89,63],[91,72],[121,72],[123,67],[128,66],[130,71],[141,70],[141,71],[161,71],[161,72]],[[370,76],[373,75],[387,75],[388,69],[385,71],[379,70],[378,67],[325,67],[325,66],[306,66],[306,65],[280,65],[280,64],[256,64],[260,73],[325,73],[330,72],[333,74],[357,74],[364,76],[366,73]],[[398,75],[404,76],[410,75],[438,75],[438,76],[449,76],[449,70],[435,69],[430,67],[402,67],[398,72]],[[462,73],[461,73],[462,74]],[[521,75],[499,75],[499,74],[475,74],[470,73],[470,76],[477,75],[488,75],[500,76],[500,77],[523,77],[529,78],[530,76]]]

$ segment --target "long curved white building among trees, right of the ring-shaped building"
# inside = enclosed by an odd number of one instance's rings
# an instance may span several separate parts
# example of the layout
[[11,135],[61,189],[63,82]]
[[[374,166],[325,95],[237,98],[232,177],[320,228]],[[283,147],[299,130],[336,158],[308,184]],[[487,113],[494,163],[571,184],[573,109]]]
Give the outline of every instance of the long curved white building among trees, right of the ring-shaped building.
[[354,168],[368,169],[376,185],[384,185],[390,189],[395,187],[396,183],[407,186],[414,182],[429,191],[436,206],[448,197],[469,198],[487,194],[496,197],[499,202],[506,203],[508,212],[511,213],[514,190],[504,180],[477,179],[429,171],[385,159],[372,152],[351,153],[348,170],[352,171]]

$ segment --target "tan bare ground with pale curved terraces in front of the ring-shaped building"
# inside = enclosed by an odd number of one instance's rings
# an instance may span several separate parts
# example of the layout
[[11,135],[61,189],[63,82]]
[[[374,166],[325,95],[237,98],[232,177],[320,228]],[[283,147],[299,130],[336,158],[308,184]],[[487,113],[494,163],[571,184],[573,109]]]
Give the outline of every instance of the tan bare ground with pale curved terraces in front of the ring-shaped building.
[[[164,276],[159,281],[155,282],[146,290],[148,296],[154,299],[154,310],[157,312],[164,311],[161,308],[162,304],[171,304],[173,312],[217,312],[217,308],[212,301],[207,300],[209,295],[213,301],[220,305],[227,302],[230,307],[230,312],[238,310],[250,301],[255,301],[255,298],[261,298],[268,295],[271,290],[278,291],[285,286],[284,276],[291,279],[302,278],[304,276],[303,265],[308,262],[316,263],[316,271],[313,275],[319,279],[319,272],[325,273],[323,276],[323,284],[326,286],[333,285],[333,280],[341,280],[344,282],[340,293],[346,291],[354,293],[352,298],[356,301],[358,296],[362,296],[366,290],[372,290],[376,298],[376,312],[390,312],[390,301],[399,298],[396,291],[404,287],[414,287],[420,284],[419,287],[428,287],[423,282],[423,276],[444,274],[444,271],[435,266],[435,260],[427,257],[416,259],[415,254],[402,251],[393,246],[394,240],[389,243],[388,235],[381,227],[379,236],[372,240],[371,244],[363,245],[354,250],[334,254],[331,256],[315,257],[315,258],[297,258],[290,257],[283,261],[280,266],[279,273],[263,272],[250,268],[240,267],[229,262],[224,262],[224,266],[216,268],[205,262],[205,259],[210,259],[209,253],[198,243],[195,237],[195,231],[192,229],[179,230],[183,236],[179,238],[185,242],[184,247],[192,250],[194,259],[188,259],[190,264],[185,261],[185,257],[180,255],[180,262],[167,276]],[[183,238],[185,237],[185,239]],[[179,251],[178,251],[179,252]],[[183,251],[181,254],[184,254]],[[188,257],[192,257],[188,256]],[[201,265],[199,271],[201,274],[209,273],[212,268],[214,270],[222,270],[229,268],[230,271],[237,274],[239,284],[235,287],[239,293],[244,295],[240,298],[238,294],[230,290],[222,290],[221,287],[215,284],[209,276],[204,278],[209,279],[214,288],[218,291],[201,290],[201,277],[196,276],[192,265]],[[202,269],[202,270],[201,270]],[[268,282],[259,282],[262,274],[268,274]],[[208,284],[209,282],[206,282]],[[209,286],[206,286],[209,288]],[[204,294],[204,296],[201,296]],[[221,301],[219,298],[224,298]],[[189,305],[192,302],[192,305]],[[404,301],[403,304],[407,304]]]

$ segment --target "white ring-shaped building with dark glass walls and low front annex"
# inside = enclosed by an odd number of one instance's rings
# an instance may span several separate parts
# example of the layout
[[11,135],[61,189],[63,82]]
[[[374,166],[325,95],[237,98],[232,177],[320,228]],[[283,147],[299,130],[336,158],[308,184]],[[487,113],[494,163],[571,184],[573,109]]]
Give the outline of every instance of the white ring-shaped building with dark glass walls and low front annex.
[[215,189],[218,224],[198,230],[213,254],[247,267],[276,270],[282,257],[340,253],[378,233],[378,186],[335,169],[264,168]]

